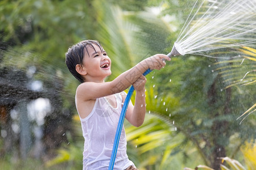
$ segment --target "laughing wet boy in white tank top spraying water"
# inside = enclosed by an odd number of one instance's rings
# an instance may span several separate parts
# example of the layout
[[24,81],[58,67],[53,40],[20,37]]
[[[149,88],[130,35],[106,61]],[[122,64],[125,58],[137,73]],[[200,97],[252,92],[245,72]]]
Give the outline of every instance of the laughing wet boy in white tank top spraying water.
[[[76,108],[84,136],[83,169],[108,169],[115,132],[126,93],[123,90],[134,86],[135,104],[129,103],[125,118],[134,126],[141,126],[146,113],[147,69],[161,69],[166,65],[164,54],[144,59],[111,82],[104,79],[111,74],[111,59],[100,42],[85,40],[73,45],[66,53],[65,62],[69,71],[81,84],[76,90]],[[126,135],[122,127],[115,158],[114,169],[137,169],[126,154]]]

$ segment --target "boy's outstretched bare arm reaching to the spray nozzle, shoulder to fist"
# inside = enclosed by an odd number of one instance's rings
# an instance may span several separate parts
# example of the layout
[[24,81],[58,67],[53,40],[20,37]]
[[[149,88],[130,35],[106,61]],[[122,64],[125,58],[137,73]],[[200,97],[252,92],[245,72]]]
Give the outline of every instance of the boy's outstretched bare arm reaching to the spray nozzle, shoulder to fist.
[[[80,100],[94,100],[99,97],[109,96],[126,90],[133,84],[147,69],[160,70],[166,63],[163,59],[170,61],[171,58],[164,54],[156,54],[139,62],[130,70],[125,71],[112,82],[94,83],[85,82],[77,87],[76,96]],[[86,95],[85,95],[86,94]]]

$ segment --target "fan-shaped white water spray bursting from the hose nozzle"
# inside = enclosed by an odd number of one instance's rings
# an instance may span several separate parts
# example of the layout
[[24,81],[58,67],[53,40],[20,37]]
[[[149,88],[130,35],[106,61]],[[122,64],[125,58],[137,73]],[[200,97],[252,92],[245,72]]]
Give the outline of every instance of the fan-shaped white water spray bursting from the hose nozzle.
[[234,48],[234,46],[240,48],[241,45],[254,46],[255,2],[255,0],[201,1],[194,15],[191,11],[177,37],[174,45],[177,52],[181,55],[207,56],[204,52],[211,50]]

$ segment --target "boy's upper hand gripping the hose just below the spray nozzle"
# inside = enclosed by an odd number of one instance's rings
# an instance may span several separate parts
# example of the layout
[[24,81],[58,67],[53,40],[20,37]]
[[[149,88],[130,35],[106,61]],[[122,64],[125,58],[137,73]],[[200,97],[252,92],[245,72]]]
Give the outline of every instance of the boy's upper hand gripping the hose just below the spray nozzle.
[[170,61],[171,58],[165,54],[156,54],[155,56],[144,59],[142,64],[143,66],[147,66],[150,70],[160,70],[166,66],[166,60]]

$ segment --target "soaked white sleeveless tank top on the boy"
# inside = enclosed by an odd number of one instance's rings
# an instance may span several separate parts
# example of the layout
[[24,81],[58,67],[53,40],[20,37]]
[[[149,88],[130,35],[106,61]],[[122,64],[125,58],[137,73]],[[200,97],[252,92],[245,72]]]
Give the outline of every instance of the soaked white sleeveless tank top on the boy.
[[[84,136],[83,169],[106,170],[109,167],[110,158],[115,139],[115,132],[122,111],[122,96],[115,94],[117,107],[112,107],[105,97],[96,99],[92,112],[81,118],[82,135]],[[122,132],[117,149],[117,156],[113,169],[126,169],[134,165],[126,154],[125,128]]]

